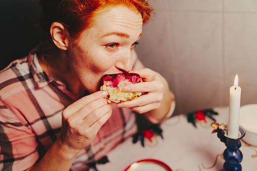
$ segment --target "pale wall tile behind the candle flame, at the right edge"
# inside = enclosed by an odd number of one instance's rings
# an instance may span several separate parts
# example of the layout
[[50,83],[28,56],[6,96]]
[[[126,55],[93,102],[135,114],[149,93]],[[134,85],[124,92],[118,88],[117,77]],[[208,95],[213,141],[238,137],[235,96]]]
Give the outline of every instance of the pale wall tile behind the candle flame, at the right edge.
[[257,14],[225,14],[225,77],[257,85]]

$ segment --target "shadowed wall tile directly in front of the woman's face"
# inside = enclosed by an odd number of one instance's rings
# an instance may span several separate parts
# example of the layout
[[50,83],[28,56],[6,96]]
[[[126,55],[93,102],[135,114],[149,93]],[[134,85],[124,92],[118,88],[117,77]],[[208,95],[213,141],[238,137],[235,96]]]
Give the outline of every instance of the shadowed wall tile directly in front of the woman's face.
[[167,12],[159,12],[156,19],[143,27],[136,46],[141,62],[148,68],[173,70],[170,28]]

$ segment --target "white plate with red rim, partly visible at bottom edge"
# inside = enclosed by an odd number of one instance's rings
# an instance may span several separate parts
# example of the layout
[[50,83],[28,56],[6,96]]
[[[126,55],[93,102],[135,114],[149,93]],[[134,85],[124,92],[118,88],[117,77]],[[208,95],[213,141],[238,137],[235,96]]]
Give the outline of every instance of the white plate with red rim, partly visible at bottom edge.
[[172,171],[164,162],[156,159],[143,159],[130,164],[124,171]]

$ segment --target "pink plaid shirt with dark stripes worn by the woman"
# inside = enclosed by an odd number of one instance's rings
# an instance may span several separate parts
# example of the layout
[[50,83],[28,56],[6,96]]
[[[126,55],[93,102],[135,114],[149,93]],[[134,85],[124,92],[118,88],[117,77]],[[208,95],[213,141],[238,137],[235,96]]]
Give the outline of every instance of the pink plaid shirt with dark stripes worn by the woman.
[[[37,51],[16,60],[0,72],[0,168],[26,170],[35,165],[61,132],[62,111],[78,100],[60,81],[48,77]],[[136,68],[140,61],[133,59]],[[71,170],[85,170],[88,162],[105,156],[137,131],[128,108],[113,105],[112,117],[94,141],[77,155]]]

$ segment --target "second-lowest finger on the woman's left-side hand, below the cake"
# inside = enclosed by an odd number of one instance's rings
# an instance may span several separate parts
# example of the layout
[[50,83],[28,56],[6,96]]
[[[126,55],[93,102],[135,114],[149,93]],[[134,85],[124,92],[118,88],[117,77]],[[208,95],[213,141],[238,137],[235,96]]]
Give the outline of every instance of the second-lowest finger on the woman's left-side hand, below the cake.
[[[95,110],[93,110],[89,115],[83,119],[83,125],[88,129],[90,128],[95,122],[100,120],[102,117],[104,117],[108,112],[112,111],[112,107],[110,104],[106,104],[104,106],[101,106]],[[101,121],[101,120],[100,120]],[[101,123],[101,122],[99,122]],[[99,124],[100,125],[100,124]]]

